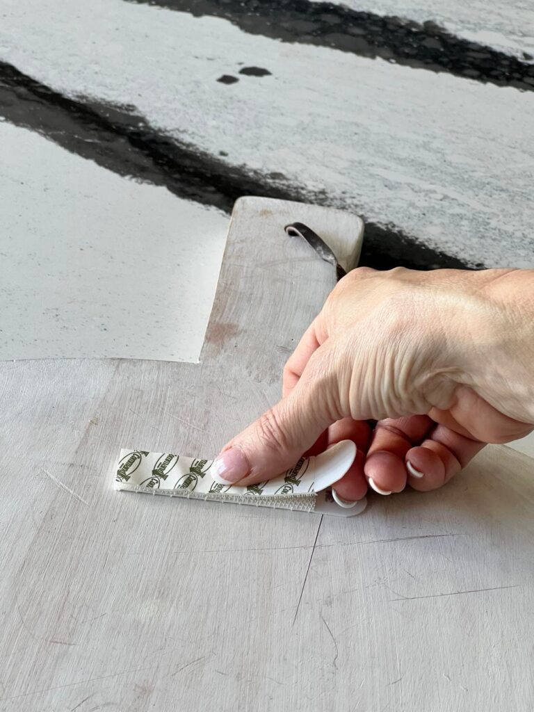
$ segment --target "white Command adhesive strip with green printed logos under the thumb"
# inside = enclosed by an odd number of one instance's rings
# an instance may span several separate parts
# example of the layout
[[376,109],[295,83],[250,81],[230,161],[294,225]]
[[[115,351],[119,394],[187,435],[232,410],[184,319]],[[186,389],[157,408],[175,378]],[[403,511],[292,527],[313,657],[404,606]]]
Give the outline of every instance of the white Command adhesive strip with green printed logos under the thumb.
[[115,470],[115,489],[347,517],[362,512],[367,501],[357,502],[349,509],[342,508],[325,490],[342,478],[355,456],[355,444],[343,440],[320,455],[301,457],[279,477],[243,487],[214,481],[209,472],[212,460],[121,450]]

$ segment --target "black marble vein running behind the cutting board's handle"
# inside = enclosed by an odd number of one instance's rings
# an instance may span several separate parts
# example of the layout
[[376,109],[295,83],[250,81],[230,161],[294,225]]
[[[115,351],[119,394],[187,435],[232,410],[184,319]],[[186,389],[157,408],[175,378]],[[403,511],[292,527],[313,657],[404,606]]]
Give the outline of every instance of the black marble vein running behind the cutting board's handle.
[[[311,192],[280,173],[263,175],[153,129],[132,106],[69,98],[0,62],[0,116],[122,177],[166,187],[177,197],[230,213],[242,195],[365,210]],[[226,155],[224,152],[222,154]],[[361,264],[376,269],[480,268],[424,245],[394,226],[365,225]]]

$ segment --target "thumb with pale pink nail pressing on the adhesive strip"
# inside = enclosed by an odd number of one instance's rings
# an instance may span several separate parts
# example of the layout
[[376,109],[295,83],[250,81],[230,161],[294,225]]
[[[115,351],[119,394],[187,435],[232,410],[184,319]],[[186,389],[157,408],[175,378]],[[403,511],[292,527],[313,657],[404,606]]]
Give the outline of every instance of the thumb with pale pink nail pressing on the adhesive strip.
[[216,482],[248,486],[276,477],[339,419],[337,379],[324,373],[313,377],[313,372],[307,366],[288,397],[223,448],[211,466]]

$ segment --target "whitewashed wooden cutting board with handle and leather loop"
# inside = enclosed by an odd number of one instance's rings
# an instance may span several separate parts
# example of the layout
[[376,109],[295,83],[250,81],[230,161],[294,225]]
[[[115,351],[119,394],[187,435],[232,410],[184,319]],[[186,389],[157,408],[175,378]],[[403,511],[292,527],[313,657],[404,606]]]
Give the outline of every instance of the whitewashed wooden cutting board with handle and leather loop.
[[527,456],[350,519],[113,490],[121,446],[214,456],[278,398],[335,283],[293,219],[360,239],[239,201],[199,365],[0,364],[2,712],[533,708]]

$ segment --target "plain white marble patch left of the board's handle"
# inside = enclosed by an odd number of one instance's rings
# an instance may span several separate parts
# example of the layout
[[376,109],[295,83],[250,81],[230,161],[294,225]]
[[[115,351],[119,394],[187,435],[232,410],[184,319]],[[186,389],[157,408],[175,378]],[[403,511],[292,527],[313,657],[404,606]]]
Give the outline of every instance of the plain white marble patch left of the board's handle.
[[0,360],[197,362],[228,218],[0,123]]

